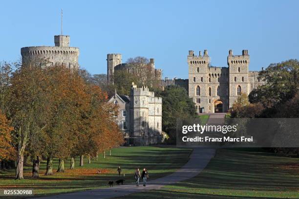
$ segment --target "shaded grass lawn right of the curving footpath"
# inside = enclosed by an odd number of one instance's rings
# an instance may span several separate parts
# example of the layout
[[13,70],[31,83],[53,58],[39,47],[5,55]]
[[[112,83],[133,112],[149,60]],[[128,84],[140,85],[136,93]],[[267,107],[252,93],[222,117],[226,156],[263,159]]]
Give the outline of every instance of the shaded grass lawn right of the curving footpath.
[[262,149],[219,149],[198,176],[126,199],[299,198],[299,159]]

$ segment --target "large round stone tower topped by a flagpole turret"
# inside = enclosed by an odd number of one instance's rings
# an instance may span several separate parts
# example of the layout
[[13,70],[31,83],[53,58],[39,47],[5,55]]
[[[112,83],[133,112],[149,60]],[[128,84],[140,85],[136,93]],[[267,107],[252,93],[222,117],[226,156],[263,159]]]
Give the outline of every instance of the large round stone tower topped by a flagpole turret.
[[69,47],[70,37],[55,35],[55,46],[30,46],[21,48],[22,63],[36,66],[63,65],[70,69],[79,67],[79,48]]

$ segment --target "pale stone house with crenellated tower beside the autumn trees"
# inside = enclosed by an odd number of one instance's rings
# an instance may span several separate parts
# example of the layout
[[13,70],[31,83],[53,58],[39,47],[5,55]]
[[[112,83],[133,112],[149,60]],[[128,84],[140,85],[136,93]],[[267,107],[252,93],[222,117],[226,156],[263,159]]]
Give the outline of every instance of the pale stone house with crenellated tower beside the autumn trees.
[[130,96],[114,96],[109,102],[119,106],[115,117],[124,132],[126,145],[149,145],[162,142],[162,98],[155,97],[147,86],[132,83]]

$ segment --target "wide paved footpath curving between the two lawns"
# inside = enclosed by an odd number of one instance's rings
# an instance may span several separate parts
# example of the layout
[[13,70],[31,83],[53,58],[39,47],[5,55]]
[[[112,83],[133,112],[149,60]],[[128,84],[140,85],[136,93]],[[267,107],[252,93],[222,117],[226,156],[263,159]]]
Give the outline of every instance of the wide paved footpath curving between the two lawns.
[[142,186],[142,180],[140,180],[141,186],[139,185],[139,187],[136,187],[135,184],[125,184],[97,190],[41,197],[39,199],[110,199],[146,190],[158,190],[162,186],[190,179],[198,175],[207,166],[214,155],[215,149],[194,148],[189,161],[182,168],[166,177],[148,180],[146,187]]

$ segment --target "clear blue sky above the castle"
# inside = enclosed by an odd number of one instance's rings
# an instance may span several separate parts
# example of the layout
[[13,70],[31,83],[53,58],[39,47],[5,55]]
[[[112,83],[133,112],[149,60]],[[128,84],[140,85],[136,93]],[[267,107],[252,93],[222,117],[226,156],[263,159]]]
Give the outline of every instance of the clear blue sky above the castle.
[[64,35],[80,48],[79,63],[107,73],[107,53],[154,58],[163,76],[188,78],[188,50],[207,49],[227,66],[248,49],[250,70],[299,58],[298,0],[5,0],[1,1],[0,60],[21,57],[24,46],[54,45],[64,12]]

